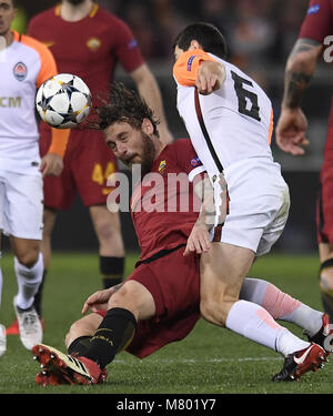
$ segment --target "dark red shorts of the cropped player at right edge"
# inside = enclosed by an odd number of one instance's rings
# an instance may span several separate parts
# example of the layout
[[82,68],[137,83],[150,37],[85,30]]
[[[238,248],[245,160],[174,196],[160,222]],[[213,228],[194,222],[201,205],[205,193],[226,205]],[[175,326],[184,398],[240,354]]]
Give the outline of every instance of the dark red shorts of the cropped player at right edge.
[[316,206],[317,242],[333,244],[333,100]]

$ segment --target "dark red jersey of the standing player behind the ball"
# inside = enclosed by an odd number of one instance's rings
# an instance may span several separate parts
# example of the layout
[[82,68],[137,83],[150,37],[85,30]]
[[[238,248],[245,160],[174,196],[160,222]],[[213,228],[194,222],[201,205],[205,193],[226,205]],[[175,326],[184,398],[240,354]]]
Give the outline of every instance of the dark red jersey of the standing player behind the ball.
[[94,98],[110,84],[118,62],[127,72],[144,62],[131,30],[115,16],[94,4],[84,19],[67,22],[60,7],[36,16],[28,33],[50,48],[59,72],[82,78]]

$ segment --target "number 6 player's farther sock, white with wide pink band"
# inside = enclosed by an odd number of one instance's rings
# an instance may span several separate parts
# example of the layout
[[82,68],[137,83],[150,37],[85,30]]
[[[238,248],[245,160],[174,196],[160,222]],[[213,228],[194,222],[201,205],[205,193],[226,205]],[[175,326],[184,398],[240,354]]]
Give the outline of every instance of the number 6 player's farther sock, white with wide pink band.
[[246,277],[240,298],[261,305],[274,319],[291,322],[300,326],[309,336],[315,335],[323,324],[322,312],[293,298],[264,280]]

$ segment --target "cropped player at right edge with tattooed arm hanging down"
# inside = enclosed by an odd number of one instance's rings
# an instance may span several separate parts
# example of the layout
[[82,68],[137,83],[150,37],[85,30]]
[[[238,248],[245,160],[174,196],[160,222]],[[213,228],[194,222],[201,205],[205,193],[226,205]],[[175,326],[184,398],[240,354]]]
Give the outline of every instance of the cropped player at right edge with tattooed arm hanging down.
[[[299,39],[286,62],[281,115],[276,124],[276,143],[293,155],[304,154],[307,120],[301,109],[310,85],[323,42],[333,33],[333,1],[311,0]],[[317,244],[320,255],[320,291],[324,310],[333,318],[333,106],[321,169],[321,190],[316,205]]]

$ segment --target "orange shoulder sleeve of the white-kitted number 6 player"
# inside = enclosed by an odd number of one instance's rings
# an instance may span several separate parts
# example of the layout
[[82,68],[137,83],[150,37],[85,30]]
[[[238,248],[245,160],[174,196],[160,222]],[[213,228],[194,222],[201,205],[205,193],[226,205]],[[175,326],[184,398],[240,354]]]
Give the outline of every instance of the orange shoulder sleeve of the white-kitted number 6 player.
[[173,77],[181,85],[193,87],[201,61],[215,60],[201,49],[182,53],[173,65]]

